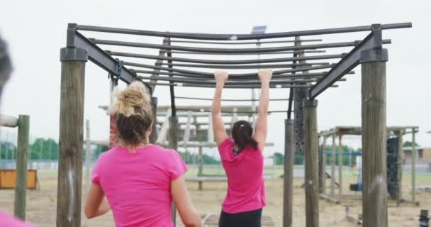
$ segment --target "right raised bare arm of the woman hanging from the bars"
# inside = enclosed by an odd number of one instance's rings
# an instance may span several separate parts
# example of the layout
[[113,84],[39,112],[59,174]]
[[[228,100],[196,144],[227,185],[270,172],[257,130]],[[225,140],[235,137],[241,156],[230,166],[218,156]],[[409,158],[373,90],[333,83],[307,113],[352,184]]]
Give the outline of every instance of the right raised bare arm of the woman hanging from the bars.
[[259,109],[257,114],[256,129],[253,138],[257,141],[260,150],[264,150],[267,141],[267,114],[269,106],[269,81],[272,77],[272,70],[259,70],[261,82]]

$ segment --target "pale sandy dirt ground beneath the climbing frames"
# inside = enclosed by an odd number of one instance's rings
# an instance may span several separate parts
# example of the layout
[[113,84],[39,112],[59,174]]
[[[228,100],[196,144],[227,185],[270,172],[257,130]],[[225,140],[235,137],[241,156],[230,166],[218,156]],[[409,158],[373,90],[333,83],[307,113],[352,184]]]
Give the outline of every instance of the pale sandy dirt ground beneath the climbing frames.
[[[57,173],[56,172],[39,172],[38,179],[40,189],[28,191],[27,200],[27,220],[35,224],[35,226],[55,226],[55,209],[57,198]],[[408,185],[410,178],[403,177],[403,192],[404,197],[409,197]],[[301,189],[303,179],[298,178],[294,181],[293,191],[293,226],[306,226],[305,223],[305,203],[304,191]],[[345,180],[344,192],[347,192],[348,184],[352,180]],[[198,184],[194,182],[188,183],[189,193],[192,196],[196,209],[202,214],[208,212],[218,214],[220,212],[220,204],[223,201],[226,191],[225,182],[206,182],[203,184],[203,190],[198,191]],[[328,183],[329,184],[329,181]],[[418,176],[417,185],[431,185],[431,175]],[[265,182],[267,206],[264,208],[263,214],[272,216],[276,223],[275,226],[282,224],[282,207],[283,207],[283,181],[281,179],[272,179]],[[329,192],[329,188],[327,192]],[[0,209],[13,213],[13,190],[0,191]],[[352,192],[348,192],[352,194]],[[360,196],[360,194],[357,194]],[[416,198],[420,201],[420,206],[411,204],[403,204],[396,207],[395,201],[388,201],[388,221],[389,226],[418,226],[418,215],[420,209],[431,209],[431,193],[418,192]],[[351,206],[351,211],[354,214],[362,212],[361,200],[345,199],[342,205],[335,205],[328,201],[320,200],[320,226],[357,226],[354,223],[349,223],[345,218],[345,205]],[[177,217],[177,226],[182,226],[179,217]],[[82,226],[113,226],[113,216],[111,213],[86,220],[82,216]]]

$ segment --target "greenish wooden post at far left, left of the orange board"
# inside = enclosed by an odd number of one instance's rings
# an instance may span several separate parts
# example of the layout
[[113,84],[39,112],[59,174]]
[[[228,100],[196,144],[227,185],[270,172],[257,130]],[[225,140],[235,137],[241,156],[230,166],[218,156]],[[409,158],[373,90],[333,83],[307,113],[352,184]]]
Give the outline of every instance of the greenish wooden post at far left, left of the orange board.
[[18,117],[18,147],[16,148],[15,205],[13,214],[26,220],[28,134],[30,116]]

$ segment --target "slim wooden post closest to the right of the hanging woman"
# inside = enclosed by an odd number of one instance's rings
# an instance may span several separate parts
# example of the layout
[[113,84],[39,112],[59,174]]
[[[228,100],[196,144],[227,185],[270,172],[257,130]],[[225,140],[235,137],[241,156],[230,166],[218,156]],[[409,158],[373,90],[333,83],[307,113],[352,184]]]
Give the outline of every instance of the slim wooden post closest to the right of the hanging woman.
[[285,120],[283,227],[291,227],[293,223],[293,164],[295,158],[295,139],[293,136],[293,120]]

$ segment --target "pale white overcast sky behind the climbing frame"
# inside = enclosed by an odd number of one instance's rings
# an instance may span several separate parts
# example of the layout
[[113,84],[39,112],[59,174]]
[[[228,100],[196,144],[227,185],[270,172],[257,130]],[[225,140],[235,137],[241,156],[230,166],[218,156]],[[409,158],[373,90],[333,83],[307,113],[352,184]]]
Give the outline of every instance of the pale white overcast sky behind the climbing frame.
[[[58,138],[60,115],[60,48],[66,44],[67,23],[150,31],[193,33],[250,33],[253,26],[266,25],[267,33],[319,28],[364,26],[372,23],[412,22],[413,28],[384,31],[387,45],[387,125],[419,126],[416,140],[431,147],[430,112],[431,37],[428,1],[4,1],[1,3],[0,35],[9,43],[13,74],[1,101],[6,115],[30,115],[33,137]],[[362,40],[367,33],[313,36],[325,43]],[[161,43],[157,38],[84,33],[87,37]],[[287,44],[291,45],[291,44]],[[262,47],[268,47],[263,46]],[[111,47],[110,47],[111,48]],[[114,49],[114,48],[112,48]],[[129,50],[115,48],[115,50]],[[157,50],[140,50],[157,55]],[[330,54],[333,50],[328,50]],[[340,52],[340,50],[337,50]],[[198,57],[198,56],[191,56]],[[134,60],[138,62],[139,60]],[[142,61],[141,61],[142,62]],[[152,62],[153,64],[154,62]],[[360,126],[361,77],[347,75],[337,89],[318,96],[318,130],[334,126]],[[109,102],[107,72],[86,64],[84,118],[91,122],[91,138],[108,138],[108,117],[98,108]],[[124,87],[124,84],[121,84]],[[213,89],[176,89],[177,96],[211,98]],[[157,87],[159,105],[169,104],[169,89]],[[226,90],[223,97],[248,99],[251,92]],[[271,98],[286,98],[288,89],[275,89]],[[208,102],[194,102],[210,104]],[[190,101],[177,100],[177,105]],[[272,102],[269,109],[286,109],[286,102]],[[268,152],[284,150],[285,114],[269,116]],[[404,140],[411,140],[405,135]],[[359,137],[347,137],[347,145],[359,148]]]

